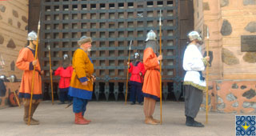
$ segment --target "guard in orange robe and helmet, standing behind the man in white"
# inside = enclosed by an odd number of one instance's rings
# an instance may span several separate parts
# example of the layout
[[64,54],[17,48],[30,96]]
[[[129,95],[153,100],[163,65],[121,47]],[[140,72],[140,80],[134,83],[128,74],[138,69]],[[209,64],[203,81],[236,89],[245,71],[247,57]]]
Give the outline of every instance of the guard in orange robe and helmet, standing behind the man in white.
[[162,55],[158,54],[158,45],[156,34],[153,30],[147,34],[146,47],[143,54],[143,64],[146,70],[144,76],[144,84],[142,92],[144,95],[144,114],[145,123],[156,125],[158,120],[153,118],[154,107],[157,100],[160,99],[160,72],[159,61],[162,60]]

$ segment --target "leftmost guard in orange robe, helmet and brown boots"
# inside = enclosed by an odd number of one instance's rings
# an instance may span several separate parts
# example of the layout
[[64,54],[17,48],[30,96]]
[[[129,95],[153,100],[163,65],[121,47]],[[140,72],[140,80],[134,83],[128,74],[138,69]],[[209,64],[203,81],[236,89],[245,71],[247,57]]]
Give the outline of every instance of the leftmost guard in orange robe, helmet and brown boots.
[[34,111],[37,109],[39,102],[42,100],[42,81],[41,74],[43,71],[41,70],[38,59],[34,60],[35,55],[35,45],[37,43],[37,34],[32,31],[28,34],[27,40],[30,42],[29,46],[26,46],[22,50],[20,50],[18,54],[18,59],[16,62],[16,66],[18,69],[23,70],[22,82],[19,90],[19,98],[22,98],[24,104],[24,117],[23,120],[27,123],[29,118],[29,109],[30,109],[30,94],[32,90],[32,77],[33,70],[35,66],[34,73],[34,90],[33,90],[33,101],[31,106],[31,120],[30,125],[38,125],[39,121],[32,118]]

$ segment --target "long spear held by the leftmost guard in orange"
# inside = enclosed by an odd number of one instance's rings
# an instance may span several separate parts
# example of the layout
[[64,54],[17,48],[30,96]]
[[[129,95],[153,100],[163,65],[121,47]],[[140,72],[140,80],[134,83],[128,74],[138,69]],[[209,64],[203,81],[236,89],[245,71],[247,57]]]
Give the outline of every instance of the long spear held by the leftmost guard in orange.
[[[40,33],[40,18],[41,18],[41,13],[39,15],[39,21],[38,21],[38,39],[37,39],[37,44],[35,47],[35,54],[34,54],[34,60],[37,60],[38,58],[38,40],[39,40],[39,33]],[[31,95],[30,95],[30,110],[29,110],[29,119],[27,121],[27,125],[30,126],[30,120],[31,120],[31,106],[32,106],[32,98],[33,98],[33,91],[34,91],[34,73],[35,73],[35,65],[33,69],[33,76],[32,76],[32,89],[31,89]]]

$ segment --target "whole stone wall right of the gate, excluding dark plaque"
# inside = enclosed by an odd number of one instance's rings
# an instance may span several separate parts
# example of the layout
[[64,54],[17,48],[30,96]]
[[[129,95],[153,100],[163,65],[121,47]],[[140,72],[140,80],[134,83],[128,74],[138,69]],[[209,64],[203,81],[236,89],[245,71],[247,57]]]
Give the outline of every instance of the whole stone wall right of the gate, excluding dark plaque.
[[[210,110],[256,113],[256,52],[241,51],[241,35],[256,35],[255,0],[196,0],[194,9],[194,28],[206,36],[209,27],[214,54],[209,70]],[[205,38],[203,49],[207,42]]]

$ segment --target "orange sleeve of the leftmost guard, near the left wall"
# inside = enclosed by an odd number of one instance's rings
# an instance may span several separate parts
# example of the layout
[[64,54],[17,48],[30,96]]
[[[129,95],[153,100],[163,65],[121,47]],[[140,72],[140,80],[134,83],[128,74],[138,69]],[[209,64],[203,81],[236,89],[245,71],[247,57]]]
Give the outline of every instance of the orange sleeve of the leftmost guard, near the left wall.
[[27,61],[28,52],[27,50],[20,50],[18,54],[18,59],[16,61],[16,66],[20,70],[30,70],[30,62]]

